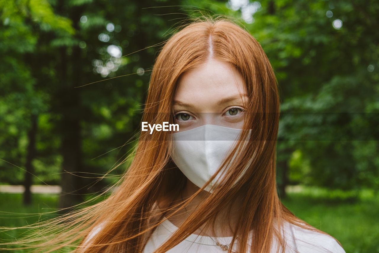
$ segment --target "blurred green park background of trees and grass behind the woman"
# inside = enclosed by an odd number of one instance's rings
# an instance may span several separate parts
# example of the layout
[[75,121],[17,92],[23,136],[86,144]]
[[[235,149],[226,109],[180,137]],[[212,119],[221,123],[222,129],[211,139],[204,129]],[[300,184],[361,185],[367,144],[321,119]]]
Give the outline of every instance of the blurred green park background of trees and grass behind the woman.
[[227,15],[279,82],[282,202],[346,252],[379,252],[377,13],[374,0],[1,0],[0,226],[116,183],[160,47],[189,17]]

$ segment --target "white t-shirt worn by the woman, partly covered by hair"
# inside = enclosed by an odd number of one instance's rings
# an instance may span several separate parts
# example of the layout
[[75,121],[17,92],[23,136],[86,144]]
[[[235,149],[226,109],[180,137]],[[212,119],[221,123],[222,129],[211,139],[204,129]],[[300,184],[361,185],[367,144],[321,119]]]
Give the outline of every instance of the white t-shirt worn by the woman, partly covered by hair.
[[[149,241],[144,248],[144,253],[152,253],[164,241],[166,241],[178,228],[168,219],[164,220],[153,232]],[[285,236],[287,238],[286,252],[299,253],[346,253],[338,242],[331,236],[313,232],[300,228],[292,224],[285,226]],[[217,237],[217,241],[221,244],[230,244],[232,237]],[[237,251],[236,242],[233,250]],[[276,248],[273,246],[273,248]],[[167,251],[168,253],[225,253],[221,247],[216,245],[215,240],[208,236],[199,236],[191,234],[185,240],[180,242],[174,248]],[[274,252],[274,251],[272,251]]]

